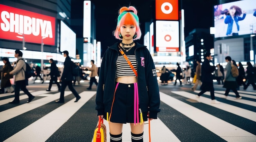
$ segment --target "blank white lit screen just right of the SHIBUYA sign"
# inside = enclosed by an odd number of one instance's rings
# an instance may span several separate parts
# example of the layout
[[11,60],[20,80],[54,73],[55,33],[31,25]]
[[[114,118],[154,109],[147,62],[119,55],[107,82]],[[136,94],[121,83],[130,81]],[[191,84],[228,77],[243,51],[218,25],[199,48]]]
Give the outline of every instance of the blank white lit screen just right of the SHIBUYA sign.
[[76,58],[76,33],[74,33],[63,21],[61,21],[60,46],[61,52],[67,50],[70,57]]

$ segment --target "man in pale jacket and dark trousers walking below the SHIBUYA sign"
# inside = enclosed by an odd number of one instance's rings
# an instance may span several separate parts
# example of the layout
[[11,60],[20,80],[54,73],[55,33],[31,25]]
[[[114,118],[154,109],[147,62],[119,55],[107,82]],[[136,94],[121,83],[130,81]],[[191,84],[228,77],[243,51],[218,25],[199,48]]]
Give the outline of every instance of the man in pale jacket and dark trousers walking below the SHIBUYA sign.
[[[14,100],[9,102],[11,104],[18,104],[20,103],[20,90],[22,90],[27,96],[29,96],[29,99],[27,103],[31,102],[35,96],[33,96],[26,88],[26,77],[25,77],[25,71],[26,71],[26,63],[22,58],[23,53],[20,50],[15,50],[14,57],[17,58],[17,61],[14,63],[16,66],[14,69],[9,72],[9,75],[15,75],[15,89],[14,89]],[[8,73],[4,73],[4,75],[8,75]]]

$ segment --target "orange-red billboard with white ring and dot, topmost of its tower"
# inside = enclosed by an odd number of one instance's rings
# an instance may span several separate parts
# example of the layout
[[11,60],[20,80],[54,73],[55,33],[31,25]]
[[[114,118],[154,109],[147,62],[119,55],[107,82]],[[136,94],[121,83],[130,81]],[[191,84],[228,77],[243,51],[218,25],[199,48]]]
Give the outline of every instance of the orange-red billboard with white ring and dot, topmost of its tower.
[[156,20],[179,20],[179,0],[155,0]]

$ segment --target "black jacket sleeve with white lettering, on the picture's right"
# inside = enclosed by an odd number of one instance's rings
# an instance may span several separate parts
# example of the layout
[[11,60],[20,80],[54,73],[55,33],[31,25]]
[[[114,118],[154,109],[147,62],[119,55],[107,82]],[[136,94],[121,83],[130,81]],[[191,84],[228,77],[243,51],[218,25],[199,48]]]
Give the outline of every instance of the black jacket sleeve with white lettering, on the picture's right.
[[157,118],[157,113],[160,112],[159,106],[160,106],[160,96],[159,96],[159,87],[157,82],[157,74],[155,70],[155,64],[153,62],[153,59],[146,50],[147,57],[145,61],[148,61],[148,63],[145,62],[145,71],[146,71],[146,84],[148,88],[148,104],[149,104],[149,118]]

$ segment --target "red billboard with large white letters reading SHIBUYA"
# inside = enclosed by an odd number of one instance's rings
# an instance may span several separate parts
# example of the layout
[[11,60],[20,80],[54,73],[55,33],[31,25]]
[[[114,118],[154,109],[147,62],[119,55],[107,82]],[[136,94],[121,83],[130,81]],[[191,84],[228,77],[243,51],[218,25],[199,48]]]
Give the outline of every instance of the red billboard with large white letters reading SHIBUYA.
[[0,4],[0,39],[55,45],[55,18]]

